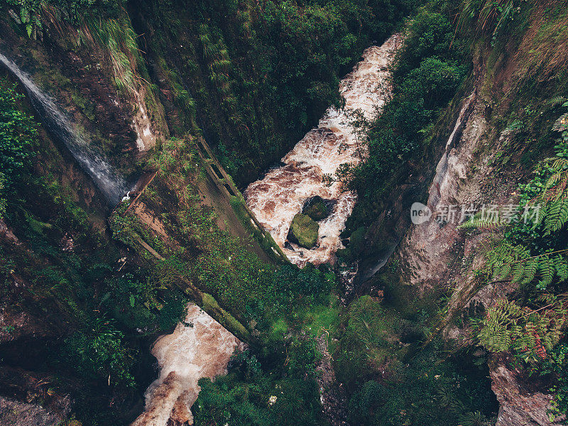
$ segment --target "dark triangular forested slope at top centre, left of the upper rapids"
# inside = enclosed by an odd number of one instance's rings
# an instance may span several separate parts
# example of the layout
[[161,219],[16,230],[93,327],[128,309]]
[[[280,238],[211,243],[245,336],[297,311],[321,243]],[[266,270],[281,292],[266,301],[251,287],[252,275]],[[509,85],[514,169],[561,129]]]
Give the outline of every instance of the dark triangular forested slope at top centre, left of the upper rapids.
[[163,31],[148,43],[166,52],[160,67],[178,81],[176,99],[192,98],[180,104],[197,107],[207,141],[243,185],[339,102],[339,77],[417,1],[145,3],[144,20]]

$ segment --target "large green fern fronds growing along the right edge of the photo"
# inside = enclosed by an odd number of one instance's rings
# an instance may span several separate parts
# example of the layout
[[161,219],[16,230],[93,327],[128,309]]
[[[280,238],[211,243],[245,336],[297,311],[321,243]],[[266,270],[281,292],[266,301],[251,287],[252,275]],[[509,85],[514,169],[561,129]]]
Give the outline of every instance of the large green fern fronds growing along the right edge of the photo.
[[[555,104],[568,107],[565,99]],[[566,363],[558,345],[567,319],[567,114],[555,121],[560,132],[555,158],[544,160],[535,178],[520,188],[521,204],[515,221],[487,253],[482,283],[507,280],[519,285],[514,300],[498,300],[484,317],[474,320],[477,339],[489,351],[510,351],[528,371],[557,373],[557,414],[566,414]],[[532,212],[534,214],[528,214]],[[476,226],[499,226],[478,220]],[[548,365],[547,367],[543,366]]]

